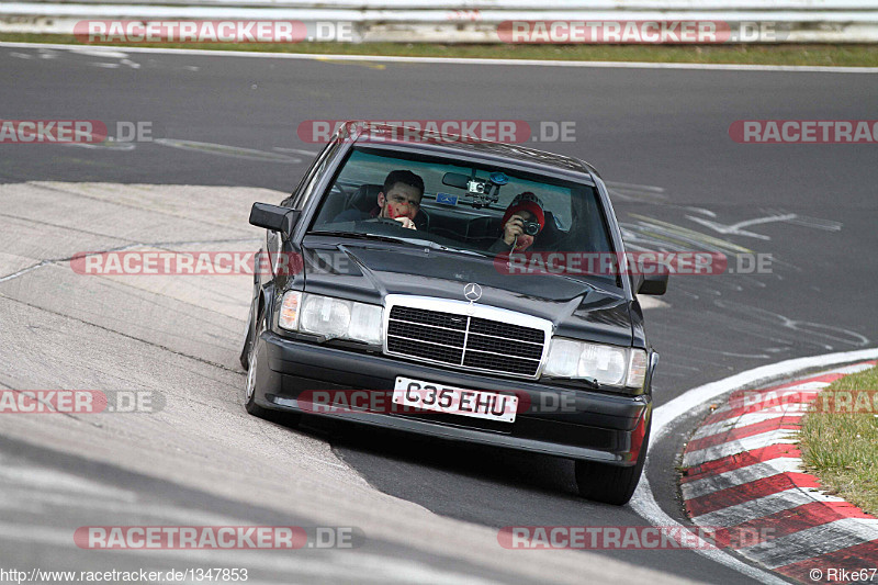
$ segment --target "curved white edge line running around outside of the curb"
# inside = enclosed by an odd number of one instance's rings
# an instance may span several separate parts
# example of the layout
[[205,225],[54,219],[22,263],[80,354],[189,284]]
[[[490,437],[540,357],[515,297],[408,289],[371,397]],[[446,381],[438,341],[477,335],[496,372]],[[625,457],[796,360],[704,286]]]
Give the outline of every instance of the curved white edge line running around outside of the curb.
[[[694,387],[684,392],[676,398],[667,404],[656,408],[652,417],[652,438],[650,441],[650,450],[654,449],[658,441],[671,430],[672,424],[684,419],[685,415],[697,413],[699,407],[705,403],[709,403],[719,396],[750,385],[767,383],[772,380],[783,378],[790,378],[796,372],[807,370],[810,368],[831,368],[840,363],[847,363],[859,360],[874,360],[878,358],[878,348],[859,349],[856,351],[842,351],[837,353],[829,353],[825,356],[812,356],[809,358],[796,358],[767,365],[761,365],[753,370],[747,370],[739,374],[711,382],[701,386]],[[646,468],[649,468],[649,459],[646,460]],[[679,526],[683,525],[674,520],[665,513],[655,502],[655,496],[650,488],[650,482],[646,479],[646,469],[644,469],[643,477],[640,480],[634,497],[631,498],[631,509],[638,515],[651,522],[653,526]],[[693,532],[695,535],[695,532]],[[728,552],[711,549],[696,549],[698,554],[725,565],[739,573],[754,578],[761,583],[786,585],[786,581],[773,575],[755,566],[751,566]]]

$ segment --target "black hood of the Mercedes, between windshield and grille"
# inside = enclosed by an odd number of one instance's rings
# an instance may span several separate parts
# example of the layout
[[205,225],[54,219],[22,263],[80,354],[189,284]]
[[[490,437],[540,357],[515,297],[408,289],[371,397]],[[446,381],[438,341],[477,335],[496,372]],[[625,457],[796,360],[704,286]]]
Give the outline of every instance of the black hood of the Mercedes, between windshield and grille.
[[554,334],[630,346],[630,303],[600,281],[553,274],[509,275],[492,258],[378,241],[306,243],[305,291],[382,304],[387,294],[465,301],[463,288],[482,286],[479,304],[551,320]]

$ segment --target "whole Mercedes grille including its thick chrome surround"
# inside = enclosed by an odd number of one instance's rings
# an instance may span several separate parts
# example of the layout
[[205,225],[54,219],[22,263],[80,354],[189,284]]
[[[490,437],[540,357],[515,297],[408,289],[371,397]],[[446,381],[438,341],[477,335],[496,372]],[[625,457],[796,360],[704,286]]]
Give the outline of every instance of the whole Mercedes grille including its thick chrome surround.
[[536,379],[551,323],[459,301],[387,295],[385,331],[389,355]]

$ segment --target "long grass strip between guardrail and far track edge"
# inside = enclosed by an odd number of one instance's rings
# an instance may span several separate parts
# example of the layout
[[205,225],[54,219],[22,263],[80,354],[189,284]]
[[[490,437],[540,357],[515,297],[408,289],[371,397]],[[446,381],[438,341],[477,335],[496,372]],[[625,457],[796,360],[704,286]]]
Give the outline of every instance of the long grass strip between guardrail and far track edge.
[[[94,46],[91,44],[85,45],[72,35],[61,34],[0,33],[0,41]],[[109,46],[125,45],[110,44]],[[131,46],[334,55],[401,55],[410,57],[878,67],[878,46],[876,45],[639,46],[439,45],[435,43],[137,43]]]

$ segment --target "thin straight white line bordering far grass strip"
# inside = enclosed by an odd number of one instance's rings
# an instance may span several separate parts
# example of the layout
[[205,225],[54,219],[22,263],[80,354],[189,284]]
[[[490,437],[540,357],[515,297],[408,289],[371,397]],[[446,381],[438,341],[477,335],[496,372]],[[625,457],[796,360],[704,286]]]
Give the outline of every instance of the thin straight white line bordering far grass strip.
[[[71,50],[76,45],[55,45],[43,43],[0,43],[0,47],[33,48],[45,47],[58,50]],[[91,47],[100,50],[99,47]],[[159,53],[169,55],[209,55],[226,57],[249,57],[256,59],[300,59],[300,60],[351,60],[351,61],[383,61],[383,63],[429,63],[447,65],[517,65],[536,67],[593,67],[609,69],[695,69],[708,71],[789,71],[789,72],[820,72],[820,74],[878,74],[878,67],[823,67],[823,66],[791,66],[791,65],[730,65],[706,63],[634,63],[634,61],[561,61],[540,59],[487,59],[487,58],[455,58],[455,57],[396,57],[376,55],[308,55],[304,53],[249,53],[246,50],[210,50],[195,48],[154,48],[154,47],[124,47],[127,53]],[[115,49],[112,49],[115,50]]]

